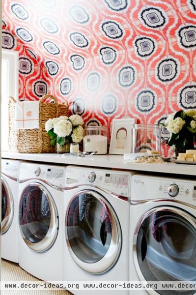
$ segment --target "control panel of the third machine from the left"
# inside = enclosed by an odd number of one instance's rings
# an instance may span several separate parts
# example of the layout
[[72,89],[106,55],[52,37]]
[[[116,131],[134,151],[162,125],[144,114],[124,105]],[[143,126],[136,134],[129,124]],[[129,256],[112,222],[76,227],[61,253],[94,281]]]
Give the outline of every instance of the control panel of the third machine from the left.
[[130,174],[127,172],[67,167],[66,185],[92,185],[129,197]]

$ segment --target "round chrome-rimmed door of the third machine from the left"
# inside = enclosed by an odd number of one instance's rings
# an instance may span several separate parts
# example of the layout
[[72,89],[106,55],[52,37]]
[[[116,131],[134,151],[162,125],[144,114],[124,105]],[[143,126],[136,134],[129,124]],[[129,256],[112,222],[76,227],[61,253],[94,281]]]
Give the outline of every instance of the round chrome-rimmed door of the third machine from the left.
[[85,271],[98,274],[118,260],[122,234],[114,209],[93,190],[77,193],[67,207],[65,235],[74,261]]

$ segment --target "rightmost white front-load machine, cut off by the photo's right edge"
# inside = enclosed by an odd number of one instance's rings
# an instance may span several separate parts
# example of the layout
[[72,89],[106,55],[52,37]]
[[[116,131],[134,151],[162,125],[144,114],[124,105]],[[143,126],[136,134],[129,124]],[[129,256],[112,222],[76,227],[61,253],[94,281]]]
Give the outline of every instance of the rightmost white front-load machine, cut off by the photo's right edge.
[[[131,197],[130,281],[196,281],[196,180],[136,174]],[[193,295],[195,291],[140,294]]]

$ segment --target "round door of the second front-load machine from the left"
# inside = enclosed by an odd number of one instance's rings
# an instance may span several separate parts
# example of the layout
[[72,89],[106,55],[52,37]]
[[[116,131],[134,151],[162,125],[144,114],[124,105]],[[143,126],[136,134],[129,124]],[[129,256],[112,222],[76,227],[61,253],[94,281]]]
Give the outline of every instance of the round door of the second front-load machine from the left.
[[19,226],[25,243],[36,252],[45,252],[55,243],[58,233],[56,205],[50,192],[39,182],[29,183],[22,191]]

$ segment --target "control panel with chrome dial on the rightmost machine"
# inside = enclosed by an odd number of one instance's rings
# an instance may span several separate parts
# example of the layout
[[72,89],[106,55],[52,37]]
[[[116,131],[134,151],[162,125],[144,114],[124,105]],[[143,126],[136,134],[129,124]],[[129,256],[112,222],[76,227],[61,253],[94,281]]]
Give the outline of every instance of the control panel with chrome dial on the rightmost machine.
[[135,175],[131,194],[133,201],[177,199],[196,205],[196,181]]

